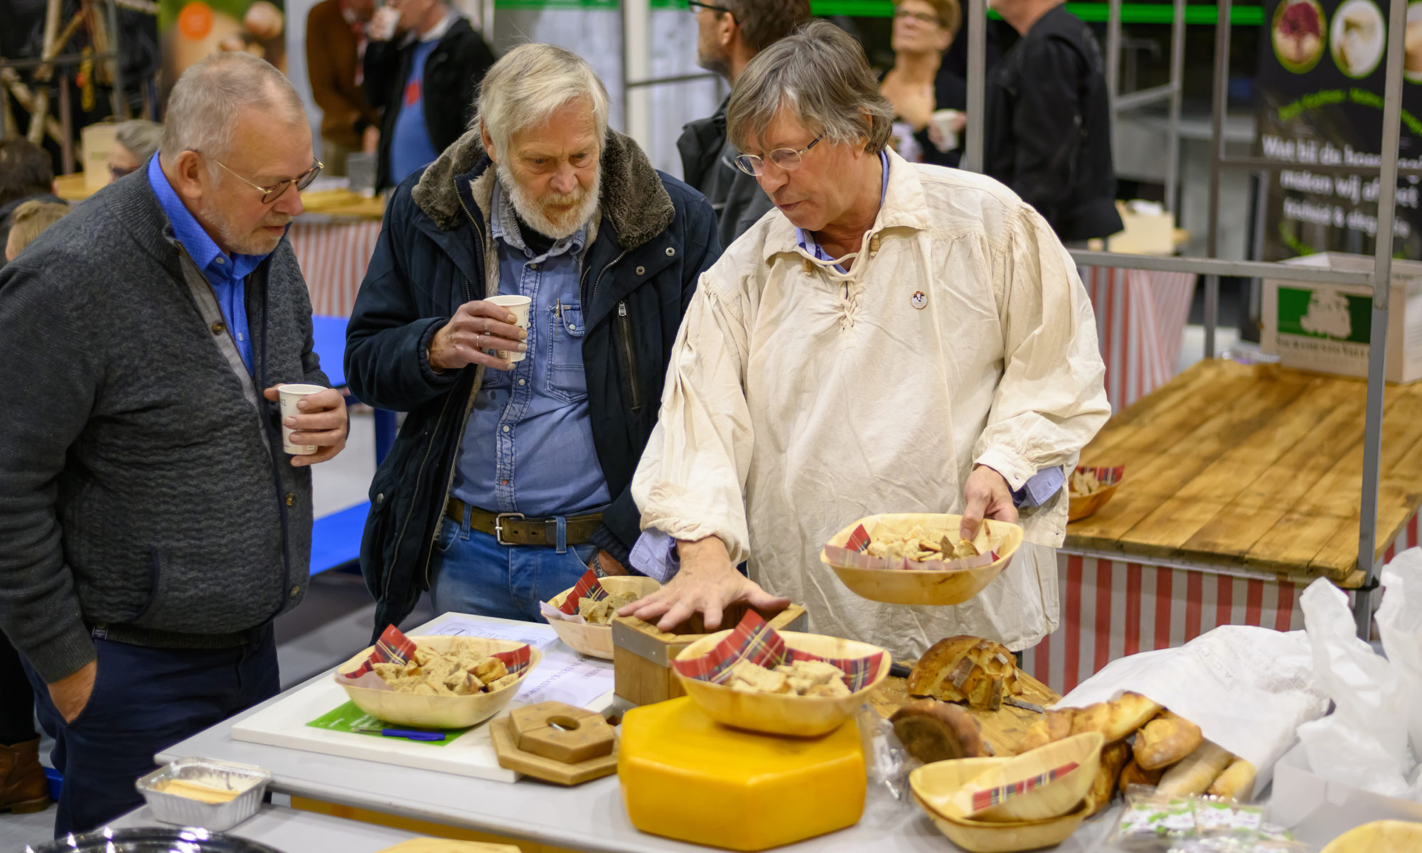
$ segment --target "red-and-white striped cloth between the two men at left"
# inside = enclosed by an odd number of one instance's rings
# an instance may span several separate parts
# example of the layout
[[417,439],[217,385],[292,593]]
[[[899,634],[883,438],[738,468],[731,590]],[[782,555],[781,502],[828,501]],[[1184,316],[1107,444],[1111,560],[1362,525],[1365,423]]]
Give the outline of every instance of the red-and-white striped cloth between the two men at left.
[[356,294],[380,237],[380,222],[293,222],[292,250],[301,264],[311,313],[350,317]]

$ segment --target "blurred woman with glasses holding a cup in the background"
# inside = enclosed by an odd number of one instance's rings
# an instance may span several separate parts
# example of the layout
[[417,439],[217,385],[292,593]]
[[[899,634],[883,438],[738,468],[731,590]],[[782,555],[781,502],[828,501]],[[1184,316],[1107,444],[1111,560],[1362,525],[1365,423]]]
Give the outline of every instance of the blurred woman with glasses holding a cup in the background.
[[[890,145],[909,162],[957,166],[963,156],[958,132],[967,124],[967,81],[943,61],[961,23],[958,0],[894,0],[894,64],[879,88],[894,109]],[[939,109],[958,115],[937,122]]]

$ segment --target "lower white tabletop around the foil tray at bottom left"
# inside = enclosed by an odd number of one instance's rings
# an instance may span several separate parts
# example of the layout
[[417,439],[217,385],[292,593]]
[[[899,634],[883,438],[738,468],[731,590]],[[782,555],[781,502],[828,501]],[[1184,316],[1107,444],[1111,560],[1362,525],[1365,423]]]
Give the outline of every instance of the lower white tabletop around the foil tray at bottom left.
[[[109,826],[124,829],[128,826],[162,826],[162,823],[152,816],[148,806],[144,806],[124,815]],[[377,853],[410,839],[425,837],[417,836],[410,830],[374,826],[371,823],[360,823],[282,806],[262,806],[260,812],[226,830],[226,835],[249,842],[259,842],[287,853],[309,850]]]

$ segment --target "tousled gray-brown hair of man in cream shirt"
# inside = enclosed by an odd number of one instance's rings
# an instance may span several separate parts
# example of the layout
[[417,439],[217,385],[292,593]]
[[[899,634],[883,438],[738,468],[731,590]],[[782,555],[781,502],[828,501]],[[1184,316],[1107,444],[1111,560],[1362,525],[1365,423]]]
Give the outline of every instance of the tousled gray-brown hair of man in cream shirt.
[[829,21],[805,24],[745,65],[725,108],[731,144],[745,151],[782,107],[830,142],[865,139],[869,154],[889,144],[893,105],[859,43]]

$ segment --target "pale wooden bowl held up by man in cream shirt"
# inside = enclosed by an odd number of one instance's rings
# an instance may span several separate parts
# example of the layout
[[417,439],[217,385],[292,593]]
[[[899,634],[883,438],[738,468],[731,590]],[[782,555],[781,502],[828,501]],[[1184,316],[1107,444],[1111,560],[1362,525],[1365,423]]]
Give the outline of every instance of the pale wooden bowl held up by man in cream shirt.
[[[826,543],[843,547],[859,525],[863,525],[870,535],[876,527],[889,527],[903,533],[916,525],[933,529],[957,530],[963,516],[930,515],[930,513],[894,513],[876,515],[859,519]],[[983,591],[993,579],[1007,569],[1012,554],[1022,544],[1022,527],[1010,522],[987,519],[984,529],[987,539],[998,542],[998,559],[987,566],[974,569],[954,569],[951,572],[920,572],[916,569],[855,569],[836,566],[825,552],[820,552],[819,562],[835,570],[840,583],[856,596],[870,601],[884,601],[886,604],[961,604]],[[983,540],[983,532],[978,533]]]

